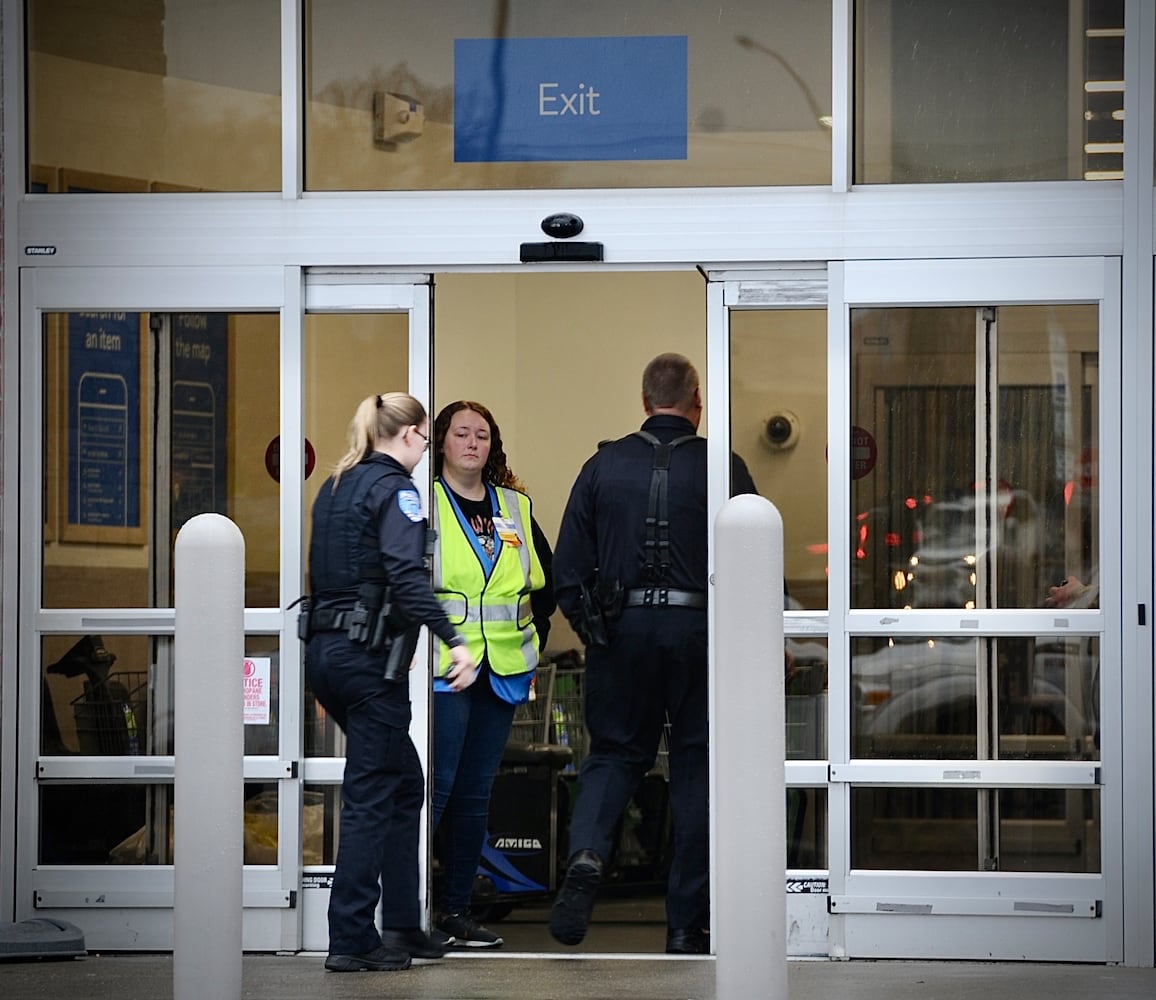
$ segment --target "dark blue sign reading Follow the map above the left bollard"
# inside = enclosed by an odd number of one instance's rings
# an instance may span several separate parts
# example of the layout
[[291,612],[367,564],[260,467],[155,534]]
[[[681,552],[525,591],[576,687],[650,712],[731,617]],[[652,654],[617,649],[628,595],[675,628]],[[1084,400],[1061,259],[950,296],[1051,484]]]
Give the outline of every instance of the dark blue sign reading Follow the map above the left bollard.
[[172,531],[199,513],[227,513],[229,317],[172,317]]

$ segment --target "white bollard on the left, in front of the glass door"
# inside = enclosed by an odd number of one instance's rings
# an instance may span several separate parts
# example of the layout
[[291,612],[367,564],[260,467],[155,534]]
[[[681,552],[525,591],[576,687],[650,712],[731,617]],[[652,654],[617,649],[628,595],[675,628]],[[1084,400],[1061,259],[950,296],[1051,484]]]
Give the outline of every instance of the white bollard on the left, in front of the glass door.
[[227,517],[177,533],[173,1000],[239,1000],[245,540]]

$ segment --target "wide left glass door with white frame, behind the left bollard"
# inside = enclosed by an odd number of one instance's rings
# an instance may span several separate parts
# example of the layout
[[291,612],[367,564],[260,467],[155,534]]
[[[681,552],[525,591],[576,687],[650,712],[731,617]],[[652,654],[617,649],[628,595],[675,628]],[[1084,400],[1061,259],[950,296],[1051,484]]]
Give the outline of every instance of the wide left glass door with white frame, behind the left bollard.
[[22,502],[42,527],[21,542],[22,717],[39,726],[18,736],[37,765],[17,881],[89,947],[171,947],[172,550],[200,513],[245,538],[246,941],[295,943],[280,916],[282,831],[297,843],[280,784],[296,756],[277,610],[283,294],[280,269],[22,272]]

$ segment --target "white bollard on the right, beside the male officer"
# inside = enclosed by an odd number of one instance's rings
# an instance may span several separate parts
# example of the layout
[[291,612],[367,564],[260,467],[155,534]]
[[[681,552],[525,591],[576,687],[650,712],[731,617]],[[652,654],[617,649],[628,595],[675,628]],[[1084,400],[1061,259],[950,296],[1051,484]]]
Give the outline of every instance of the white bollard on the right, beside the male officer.
[[728,499],[714,520],[717,1000],[786,1000],[783,518]]

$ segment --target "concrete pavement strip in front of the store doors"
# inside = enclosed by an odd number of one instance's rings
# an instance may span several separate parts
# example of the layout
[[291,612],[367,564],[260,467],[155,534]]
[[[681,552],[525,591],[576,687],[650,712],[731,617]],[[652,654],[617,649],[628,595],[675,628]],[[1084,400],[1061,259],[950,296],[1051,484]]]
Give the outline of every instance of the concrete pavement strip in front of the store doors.
[[[451,955],[407,972],[333,973],[325,956],[246,955],[245,1000],[761,1000],[717,998],[714,961]],[[210,956],[206,956],[209,969]],[[964,962],[787,964],[790,1000],[1153,1000],[1156,970]],[[171,955],[0,963],[3,1000],[169,1000]],[[769,998],[785,1000],[785,998]]]

